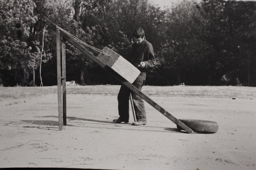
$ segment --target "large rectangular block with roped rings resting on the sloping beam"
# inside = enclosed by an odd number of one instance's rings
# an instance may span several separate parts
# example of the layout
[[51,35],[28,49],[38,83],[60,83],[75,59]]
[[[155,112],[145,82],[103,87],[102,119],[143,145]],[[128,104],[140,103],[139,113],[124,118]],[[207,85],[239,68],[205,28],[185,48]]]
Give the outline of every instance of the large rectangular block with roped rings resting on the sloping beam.
[[120,56],[115,51],[107,47],[103,48],[102,51],[106,52],[108,55],[100,53],[97,58],[99,58],[108,67],[112,68],[128,82],[133,83],[141,73],[139,69],[137,69],[129,61],[127,61],[124,57]]

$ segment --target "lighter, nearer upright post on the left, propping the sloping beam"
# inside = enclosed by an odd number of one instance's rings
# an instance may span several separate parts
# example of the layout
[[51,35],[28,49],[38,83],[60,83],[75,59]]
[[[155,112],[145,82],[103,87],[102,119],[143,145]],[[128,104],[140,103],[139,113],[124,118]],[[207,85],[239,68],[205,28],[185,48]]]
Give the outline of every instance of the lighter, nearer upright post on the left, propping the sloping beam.
[[56,54],[57,54],[57,82],[58,82],[58,111],[59,131],[62,131],[62,103],[61,103],[61,58],[60,58],[60,29],[56,27]]

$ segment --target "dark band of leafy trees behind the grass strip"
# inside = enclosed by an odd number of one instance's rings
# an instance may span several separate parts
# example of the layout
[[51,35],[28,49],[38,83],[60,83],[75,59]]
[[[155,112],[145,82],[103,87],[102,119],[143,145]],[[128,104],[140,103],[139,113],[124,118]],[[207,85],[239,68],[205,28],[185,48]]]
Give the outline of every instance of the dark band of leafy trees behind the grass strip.
[[[148,0],[0,0],[0,85],[56,85],[55,32],[46,16],[83,42],[129,55],[132,31],[145,30],[157,64],[148,85],[256,86],[256,3],[180,1],[161,10]],[[67,81],[119,84],[66,44]],[[88,49],[97,56],[97,52]],[[239,83],[240,82],[240,83]]]

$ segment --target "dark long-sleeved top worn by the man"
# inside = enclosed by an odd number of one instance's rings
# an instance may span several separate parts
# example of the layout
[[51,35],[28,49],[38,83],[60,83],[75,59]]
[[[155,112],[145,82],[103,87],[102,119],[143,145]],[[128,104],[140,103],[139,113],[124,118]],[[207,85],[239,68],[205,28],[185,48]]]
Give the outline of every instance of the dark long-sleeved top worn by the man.
[[145,71],[148,67],[154,67],[156,64],[153,46],[147,40],[141,44],[134,43],[132,45],[131,57],[129,61],[137,67],[141,62],[145,62],[144,68],[138,68],[140,71]]

